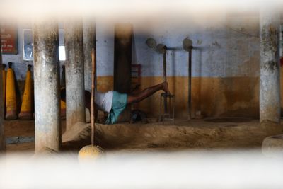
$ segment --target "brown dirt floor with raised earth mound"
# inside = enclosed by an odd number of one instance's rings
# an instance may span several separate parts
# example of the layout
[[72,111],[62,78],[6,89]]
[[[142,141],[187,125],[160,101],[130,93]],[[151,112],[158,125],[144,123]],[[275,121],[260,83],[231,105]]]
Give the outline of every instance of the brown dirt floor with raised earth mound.
[[[34,121],[11,120],[5,123],[6,138],[34,137]],[[79,150],[90,142],[90,125],[77,124],[65,132],[62,121],[62,149]],[[205,120],[175,120],[174,125],[96,124],[96,143],[106,150],[142,149],[250,149],[260,148],[265,137],[282,134],[282,125],[248,118],[217,118]],[[34,151],[34,142],[7,144],[7,151]]]

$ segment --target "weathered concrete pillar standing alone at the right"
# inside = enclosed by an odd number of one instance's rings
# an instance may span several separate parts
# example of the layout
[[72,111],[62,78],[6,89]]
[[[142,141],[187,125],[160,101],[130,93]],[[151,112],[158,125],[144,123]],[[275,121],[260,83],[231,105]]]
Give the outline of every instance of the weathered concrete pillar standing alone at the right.
[[279,14],[269,8],[260,11],[260,122],[265,120],[280,122]]

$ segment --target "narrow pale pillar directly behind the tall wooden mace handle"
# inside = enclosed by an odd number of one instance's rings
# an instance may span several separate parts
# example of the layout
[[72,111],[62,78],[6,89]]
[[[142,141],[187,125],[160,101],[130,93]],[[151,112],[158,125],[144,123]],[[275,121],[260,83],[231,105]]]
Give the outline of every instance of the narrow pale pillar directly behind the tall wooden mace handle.
[[[96,24],[91,19],[83,21],[84,88],[91,91],[91,50],[96,50]],[[96,51],[95,51],[96,53]],[[96,87],[96,85],[95,85]]]

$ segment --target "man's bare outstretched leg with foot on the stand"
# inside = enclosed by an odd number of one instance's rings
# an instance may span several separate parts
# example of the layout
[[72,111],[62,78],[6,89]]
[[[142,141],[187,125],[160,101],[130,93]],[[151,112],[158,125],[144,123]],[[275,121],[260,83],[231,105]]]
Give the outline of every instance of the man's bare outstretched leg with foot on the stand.
[[130,103],[139,103],[140,101],[144,100],[145,98],[148,98],[149,96],[153,95],[157,91],[163,90],[166,93],[170,93],[168,90],[168,83],[163,82],[161,84],[158,84],[156,86],[151,86],[149,88],[144,89],[143,91],[137,93],[137,94],[129,94],[127,96],[127,104]]

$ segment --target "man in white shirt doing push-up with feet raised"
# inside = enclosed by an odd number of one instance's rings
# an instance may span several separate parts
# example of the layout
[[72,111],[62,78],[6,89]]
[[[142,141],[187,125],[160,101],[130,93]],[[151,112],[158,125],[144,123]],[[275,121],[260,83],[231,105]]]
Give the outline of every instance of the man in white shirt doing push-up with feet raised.
[[[148,98],[157,91],[163,90],[166,93],[170,93],[168,90],[168,83],[163,82],[161,84],[151,86],[149,88],[140,91],[135,94],[118,93],[117,91],[108,91],[106,93],[95,92],[96,108],[108,113],[108,118],[105,124],[114,124],[117,122],[119,115],[125,110],[126,106],[132,103],[139,103],[140,101]],[[62,88],[61,99],[66,101],[66,90]],[[91,93],[85,91],[85,103],[86,108],[91,110]]]

